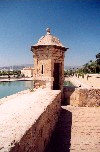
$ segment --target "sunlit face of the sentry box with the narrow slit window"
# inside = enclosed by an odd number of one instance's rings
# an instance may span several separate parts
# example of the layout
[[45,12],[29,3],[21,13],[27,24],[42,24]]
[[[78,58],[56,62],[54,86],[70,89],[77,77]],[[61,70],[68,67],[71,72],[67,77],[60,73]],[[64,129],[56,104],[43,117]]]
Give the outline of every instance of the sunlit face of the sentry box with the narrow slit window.
[[51,77],[51,55],[51,50],[48,47],[34,49],[34,77]]

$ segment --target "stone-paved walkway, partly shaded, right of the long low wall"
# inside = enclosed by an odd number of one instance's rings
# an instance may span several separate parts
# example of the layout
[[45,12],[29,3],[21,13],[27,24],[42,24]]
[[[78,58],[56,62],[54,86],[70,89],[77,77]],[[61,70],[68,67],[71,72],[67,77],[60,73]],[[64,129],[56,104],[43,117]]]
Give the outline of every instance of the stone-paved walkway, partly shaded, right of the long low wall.
[[63,106],[46,152],[100,152],[100,107]]

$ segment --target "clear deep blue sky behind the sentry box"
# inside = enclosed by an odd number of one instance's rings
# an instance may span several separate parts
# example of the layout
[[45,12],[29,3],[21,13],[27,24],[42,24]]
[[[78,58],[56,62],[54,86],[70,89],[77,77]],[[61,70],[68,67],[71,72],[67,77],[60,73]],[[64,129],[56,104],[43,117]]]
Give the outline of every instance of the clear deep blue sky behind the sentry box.
[[0,66],[33,64],[32,45],[46,28],[69,50],[65,66],[100,52],[100,0],[0,0]]

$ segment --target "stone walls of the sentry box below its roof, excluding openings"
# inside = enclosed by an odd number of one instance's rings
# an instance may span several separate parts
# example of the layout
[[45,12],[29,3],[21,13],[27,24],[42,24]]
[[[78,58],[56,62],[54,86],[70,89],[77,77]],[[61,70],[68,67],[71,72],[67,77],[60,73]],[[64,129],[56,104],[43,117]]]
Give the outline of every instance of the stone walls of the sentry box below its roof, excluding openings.
[[[62,89],[64,82],[64,50],[57,46],[39,46],[33,49],[34,57],[34,74],[35,80],[46,80],[49,82],[49,88],[53,88],[54,81],[54,63],[60,64],[59,85]],[[43,73],[42,73],[43,66]],[[49,80],[48,80],[49,79]]]

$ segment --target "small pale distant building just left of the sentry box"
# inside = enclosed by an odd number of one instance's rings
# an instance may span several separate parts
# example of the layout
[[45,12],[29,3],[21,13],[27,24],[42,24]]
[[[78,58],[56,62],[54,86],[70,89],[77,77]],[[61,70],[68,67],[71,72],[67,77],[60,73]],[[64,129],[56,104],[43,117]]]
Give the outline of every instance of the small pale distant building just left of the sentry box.
[[24,74],[25,77],[33,77],[34,68],[25,67],[21,70],[21,74]]

